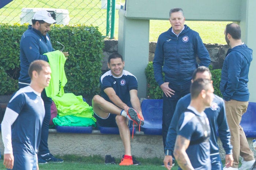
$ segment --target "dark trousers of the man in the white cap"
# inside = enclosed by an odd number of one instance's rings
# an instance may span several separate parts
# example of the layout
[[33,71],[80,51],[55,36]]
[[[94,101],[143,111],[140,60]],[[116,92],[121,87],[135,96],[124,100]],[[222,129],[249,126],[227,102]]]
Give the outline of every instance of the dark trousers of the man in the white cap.
[[[28,85],[26,84],[19,84],[19,88],[26,87]],[[41,97],[44,101],[45,105],[45,117],[42,124],[42,130],[41,130],[41,140],[39,144],[38,149],[38,155],[44,155],[48,154],[50,151],[48,149],[48,134],[49,134],[49,122],[51,118],[51,104],[52,104],[52,98],[46,96],[45,89],[41,93]]]

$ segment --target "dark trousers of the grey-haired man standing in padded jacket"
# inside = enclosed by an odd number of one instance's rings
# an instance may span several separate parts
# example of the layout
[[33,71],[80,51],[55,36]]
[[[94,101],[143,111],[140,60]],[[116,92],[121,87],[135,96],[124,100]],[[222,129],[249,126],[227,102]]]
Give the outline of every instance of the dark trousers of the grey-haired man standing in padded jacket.
[[163,119],[162,119],[162,136],[163,136],[163,149],[165,148],[166,144],[166,136],[169,129],[169,125],[172,121],[173,113],[176,108],[176,104],[178,100],[189,93],[191,82],[184,85],[175,85],[169,83],[169,88],[173,89],[175,91],[174,95],[172,97],[166,97],[165,94],[163,94]]

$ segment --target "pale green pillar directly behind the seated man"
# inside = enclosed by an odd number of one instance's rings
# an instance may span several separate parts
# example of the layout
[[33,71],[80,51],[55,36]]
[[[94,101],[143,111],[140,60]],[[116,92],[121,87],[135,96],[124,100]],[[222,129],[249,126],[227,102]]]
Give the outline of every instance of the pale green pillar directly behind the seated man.
[[148,64],[149,20],[127,19],[126,11],[120,9],[118,25],[118,53],[124,57],[124,69],[138,80],[138,96],[146,97]]

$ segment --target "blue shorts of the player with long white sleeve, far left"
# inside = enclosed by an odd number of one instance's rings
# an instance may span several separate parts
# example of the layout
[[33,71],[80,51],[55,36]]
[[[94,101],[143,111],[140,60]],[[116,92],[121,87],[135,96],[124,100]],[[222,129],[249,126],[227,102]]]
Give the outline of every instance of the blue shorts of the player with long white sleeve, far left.
[[[14,153],[14,166],[12,170],[37,170],[36,155]],[[9,169],[8,169],[9,170]]]

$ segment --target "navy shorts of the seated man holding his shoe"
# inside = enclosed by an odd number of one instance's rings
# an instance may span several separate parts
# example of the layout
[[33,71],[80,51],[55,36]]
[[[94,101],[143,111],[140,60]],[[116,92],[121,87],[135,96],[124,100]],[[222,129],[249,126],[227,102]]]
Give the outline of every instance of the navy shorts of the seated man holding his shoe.
[[[116,124],[116,115],[109,113],[109,116],[106,118],[99,117],[96,113],[94,113],[95,118],[97,119],[97,126],[101,127],[118,127]],[[132,121],[129,120],[128,127],[132,127]]]

